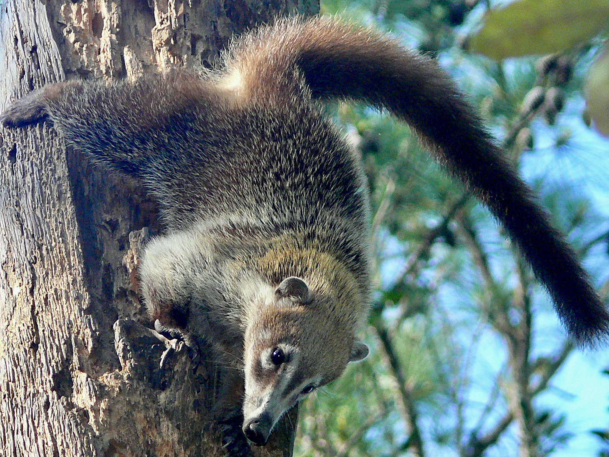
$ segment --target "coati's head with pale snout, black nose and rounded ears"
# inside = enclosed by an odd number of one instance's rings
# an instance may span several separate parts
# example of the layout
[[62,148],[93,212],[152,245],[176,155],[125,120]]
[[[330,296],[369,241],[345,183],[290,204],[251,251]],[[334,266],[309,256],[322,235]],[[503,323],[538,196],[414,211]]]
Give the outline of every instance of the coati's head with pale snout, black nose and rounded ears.
[[243,431],[254,444],[266,444],[285,411],[368,355],[355,338],[356,323],[337,309],[342,303],[331,292],[286,278],[248,325]]

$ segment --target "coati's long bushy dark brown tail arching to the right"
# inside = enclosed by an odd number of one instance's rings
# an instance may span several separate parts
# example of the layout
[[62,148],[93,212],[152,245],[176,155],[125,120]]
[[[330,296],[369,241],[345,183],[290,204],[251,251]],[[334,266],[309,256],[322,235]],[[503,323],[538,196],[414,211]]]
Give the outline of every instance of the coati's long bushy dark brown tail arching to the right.
[[594,344],[607,335],[609,314],[576,255],[434,60],[373,30],[314,18],[278,21],[239,39],[226,67],[249,100],[281,102],[281,85],[304,80],[316,99],[364,101],[406,121],[501,221],[571,336]]

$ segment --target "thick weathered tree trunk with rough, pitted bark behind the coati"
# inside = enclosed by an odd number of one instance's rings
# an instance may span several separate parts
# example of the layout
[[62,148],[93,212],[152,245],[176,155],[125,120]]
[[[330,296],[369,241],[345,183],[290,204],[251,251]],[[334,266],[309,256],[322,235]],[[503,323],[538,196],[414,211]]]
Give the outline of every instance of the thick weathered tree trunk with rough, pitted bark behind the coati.
[[[317,0],[2,0],[0,110],[75,77],[209,65],[233,34]],[[214,370],[143,326],[130,233],[158,227],[136,182],[46,124],[0,129],[0,455],[222,456]],[[134,232],[137,234],[138,232]],[[132,246],[132,249],[130,249]],[[123,262],[126,260],[127,266]],[[291,455],[295,414],[258,455]]]

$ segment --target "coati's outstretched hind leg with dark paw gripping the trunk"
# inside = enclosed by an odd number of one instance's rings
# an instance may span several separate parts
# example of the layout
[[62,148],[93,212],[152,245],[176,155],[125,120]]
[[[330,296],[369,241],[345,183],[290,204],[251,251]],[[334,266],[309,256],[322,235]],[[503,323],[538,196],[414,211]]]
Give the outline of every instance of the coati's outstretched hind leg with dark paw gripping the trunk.
[[135,83],[71,80],[18,99],[0,122],[24,127],[49,119],[66,143],[94,162],[145,178],[150,168],[180,163],[167,138],[180,135],[198,104],[209,104],[205,83],[186,71]]

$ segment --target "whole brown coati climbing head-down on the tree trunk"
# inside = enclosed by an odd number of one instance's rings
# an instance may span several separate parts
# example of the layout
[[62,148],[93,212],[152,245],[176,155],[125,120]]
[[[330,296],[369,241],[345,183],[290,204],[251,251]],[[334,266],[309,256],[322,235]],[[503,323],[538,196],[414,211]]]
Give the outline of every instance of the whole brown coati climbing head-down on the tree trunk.
[[242,358],[243,430],[264,444],[286,409],[368,353],[356,339],[370,301],[367,185],[325,99],[367,102],[414,127],[504,225],[572,338],[606,335],[576,256],[454,83],[369,29],[281,20],[236,40],[202,77],[58,83],[2,122],[48,116],[69,144],[157,197],[167,233],[139,271],[150,315]]

